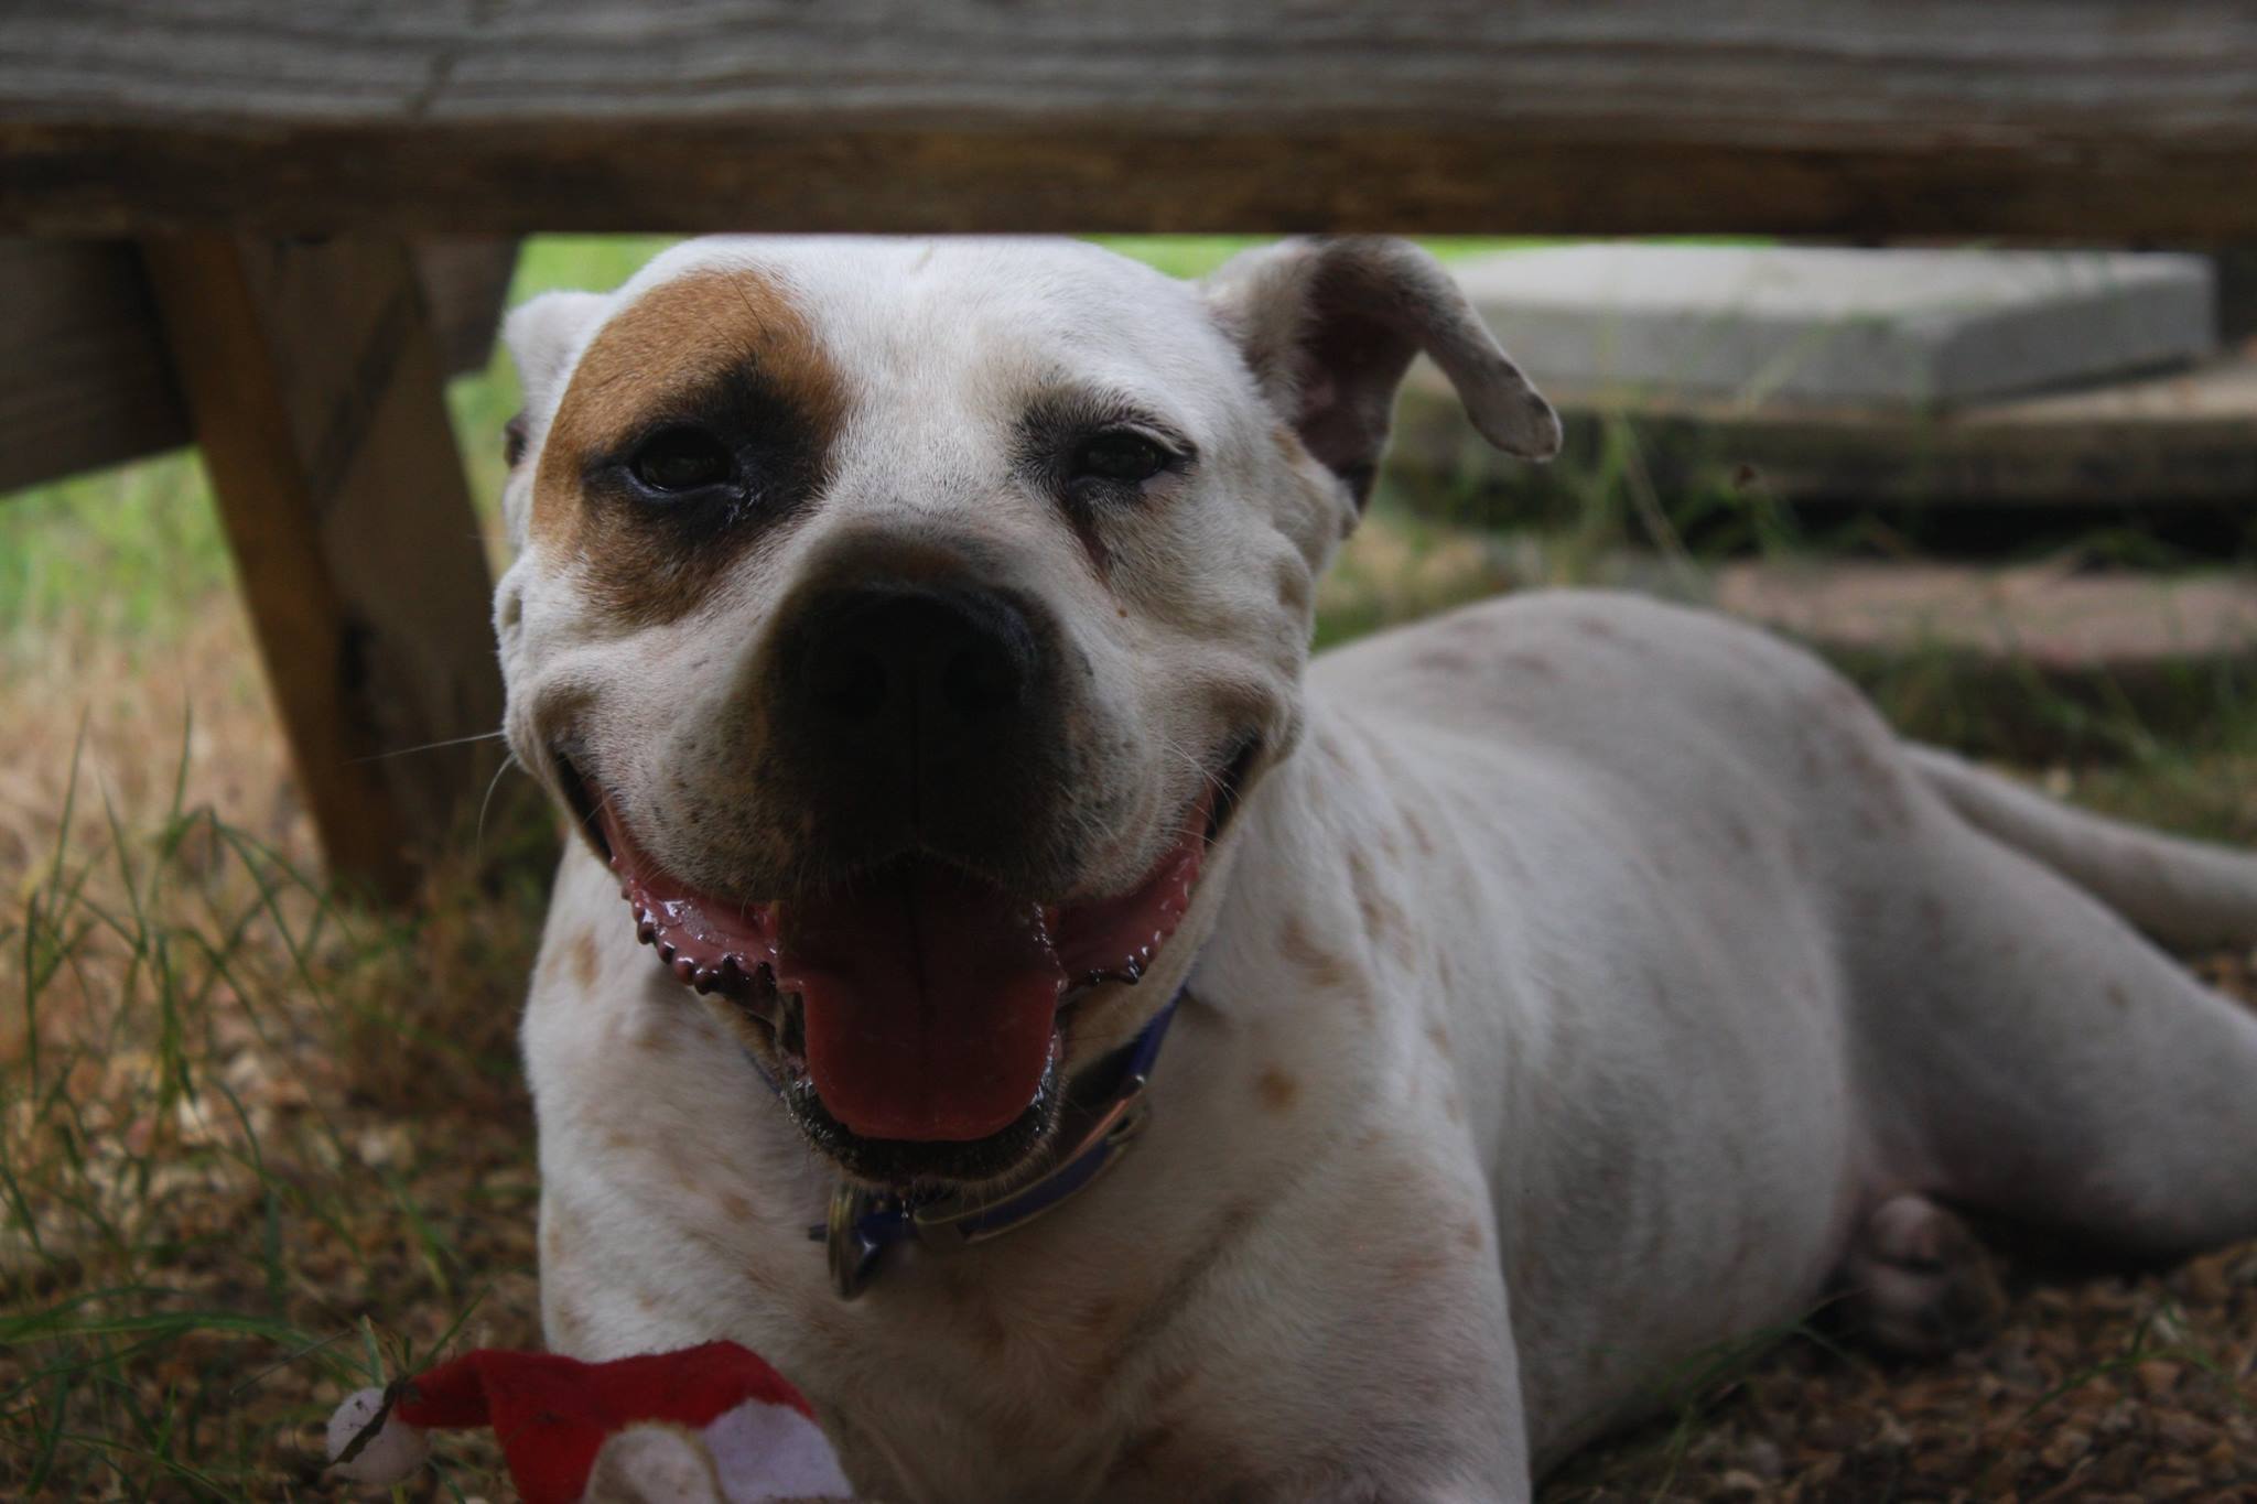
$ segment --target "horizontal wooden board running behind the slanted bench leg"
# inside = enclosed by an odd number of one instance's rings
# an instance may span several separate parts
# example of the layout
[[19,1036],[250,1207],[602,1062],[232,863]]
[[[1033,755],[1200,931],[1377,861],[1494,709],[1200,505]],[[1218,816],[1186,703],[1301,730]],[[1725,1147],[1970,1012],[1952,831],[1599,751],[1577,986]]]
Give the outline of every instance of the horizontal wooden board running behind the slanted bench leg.
[[[447,370],[481,370],[517,244],[415,248]],[[126,241],[0,239],[9,338],[0,340],[0,498],[190,442],[140,253]]]

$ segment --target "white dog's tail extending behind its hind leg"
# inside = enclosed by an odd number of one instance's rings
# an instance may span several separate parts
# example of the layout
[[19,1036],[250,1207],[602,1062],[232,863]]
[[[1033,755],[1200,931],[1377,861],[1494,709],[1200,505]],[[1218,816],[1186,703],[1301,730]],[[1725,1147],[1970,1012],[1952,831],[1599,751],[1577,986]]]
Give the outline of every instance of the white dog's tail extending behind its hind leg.
[[2070,809],[1934,746],[1907,746],[1959,819],[2054,868],[2153,940],[2257,943],[2257,857]]

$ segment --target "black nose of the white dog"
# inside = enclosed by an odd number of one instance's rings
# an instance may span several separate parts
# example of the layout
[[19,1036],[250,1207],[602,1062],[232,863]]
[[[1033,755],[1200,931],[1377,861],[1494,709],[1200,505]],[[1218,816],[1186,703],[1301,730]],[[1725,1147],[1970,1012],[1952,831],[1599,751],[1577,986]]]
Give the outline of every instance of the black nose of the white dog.
[[813,717],[837,733],[912,737],[928,753],[1002,733],[1036,674],[1025,613],[977,586],[844,589],[808,607],[799,643]]

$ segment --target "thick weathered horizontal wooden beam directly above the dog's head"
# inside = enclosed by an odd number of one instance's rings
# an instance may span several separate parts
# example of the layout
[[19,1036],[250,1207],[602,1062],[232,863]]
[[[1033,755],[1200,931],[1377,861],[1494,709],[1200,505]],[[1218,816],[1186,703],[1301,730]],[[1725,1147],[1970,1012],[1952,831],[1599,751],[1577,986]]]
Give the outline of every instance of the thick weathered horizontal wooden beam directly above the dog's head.
[[2257,237],[2228,0],[20,0],[0,228]]

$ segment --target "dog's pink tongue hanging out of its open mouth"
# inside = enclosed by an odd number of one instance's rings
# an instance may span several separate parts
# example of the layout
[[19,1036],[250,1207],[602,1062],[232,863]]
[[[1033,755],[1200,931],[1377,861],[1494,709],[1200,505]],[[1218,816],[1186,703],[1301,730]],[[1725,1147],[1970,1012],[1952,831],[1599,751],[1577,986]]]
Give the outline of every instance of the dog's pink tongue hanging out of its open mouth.
[[779,904],[808,1073],[864,1139],[986,1139],[1043,1087],[1065,970],[1036,904],[932,861]]

